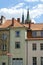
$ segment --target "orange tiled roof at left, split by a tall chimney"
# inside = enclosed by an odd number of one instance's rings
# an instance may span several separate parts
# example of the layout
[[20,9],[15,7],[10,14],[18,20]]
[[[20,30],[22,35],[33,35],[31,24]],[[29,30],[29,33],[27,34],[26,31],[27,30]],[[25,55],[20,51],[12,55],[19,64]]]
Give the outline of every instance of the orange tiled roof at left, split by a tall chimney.
[[[7,28],[11,26],[12,20],[6,20],[5,23],[0,24],[0,28]],[[23,27],[22,24],[20,24],[17,20],[14,20],[14,25],[12,27]]]

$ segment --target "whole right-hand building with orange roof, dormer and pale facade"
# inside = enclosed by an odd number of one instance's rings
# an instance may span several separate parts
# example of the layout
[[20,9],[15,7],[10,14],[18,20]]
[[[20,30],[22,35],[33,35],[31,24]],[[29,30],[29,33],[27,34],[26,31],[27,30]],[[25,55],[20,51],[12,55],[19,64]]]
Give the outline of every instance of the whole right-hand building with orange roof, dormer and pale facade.
[[30,24],[27,36],[28,65],[43,65],[43,24]]

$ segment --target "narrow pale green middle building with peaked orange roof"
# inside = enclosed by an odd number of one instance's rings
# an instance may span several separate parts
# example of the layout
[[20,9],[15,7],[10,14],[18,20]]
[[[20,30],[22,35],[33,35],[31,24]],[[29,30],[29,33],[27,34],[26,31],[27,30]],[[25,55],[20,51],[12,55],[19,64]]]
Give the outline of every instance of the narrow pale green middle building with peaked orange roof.
[[9,65],[26,65],[26,28],[14,20],[14,27],[10,28],[10,54]]

